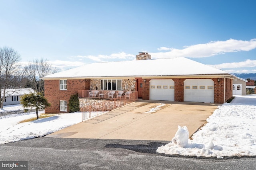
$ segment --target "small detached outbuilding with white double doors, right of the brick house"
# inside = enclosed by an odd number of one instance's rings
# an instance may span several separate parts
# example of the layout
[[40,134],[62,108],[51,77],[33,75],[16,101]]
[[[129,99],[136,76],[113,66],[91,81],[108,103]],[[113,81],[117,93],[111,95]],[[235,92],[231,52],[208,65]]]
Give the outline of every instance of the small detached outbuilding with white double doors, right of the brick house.
[[233,79],[233,95],[246,95],[246,82],[248,81],[240,77]]

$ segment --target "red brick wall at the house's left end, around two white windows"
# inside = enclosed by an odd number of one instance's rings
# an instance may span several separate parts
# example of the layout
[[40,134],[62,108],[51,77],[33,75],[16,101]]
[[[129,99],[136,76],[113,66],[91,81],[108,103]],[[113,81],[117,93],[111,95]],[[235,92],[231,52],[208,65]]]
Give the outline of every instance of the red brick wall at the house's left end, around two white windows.
[[51,107],[45,109],[45,113],[66,113],[60,111],[60,100],[68,101],[72,94],[78,90],[89,90],[90,80],[67,80],[67,90],[60,90],[60,80],[44,80],[44,96]]

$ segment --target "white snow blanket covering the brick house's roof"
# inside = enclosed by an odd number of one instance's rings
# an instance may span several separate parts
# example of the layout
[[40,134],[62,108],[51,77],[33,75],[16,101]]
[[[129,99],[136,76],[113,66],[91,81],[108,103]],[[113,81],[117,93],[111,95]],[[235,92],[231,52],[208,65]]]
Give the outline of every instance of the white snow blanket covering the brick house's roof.
[[179,76],[204,74],[229,73],[184,57],[179,57],[170,59],[92,63],[78,68],[50,74],[43,78]]

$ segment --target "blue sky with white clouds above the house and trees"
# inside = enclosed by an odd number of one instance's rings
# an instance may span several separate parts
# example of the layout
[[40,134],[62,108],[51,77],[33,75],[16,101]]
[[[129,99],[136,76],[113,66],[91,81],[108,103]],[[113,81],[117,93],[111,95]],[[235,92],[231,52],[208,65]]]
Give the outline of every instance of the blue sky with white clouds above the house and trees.
[[256,73],[254,0],[0,0],[0,47],[60,70],[95,62],[187,57]]

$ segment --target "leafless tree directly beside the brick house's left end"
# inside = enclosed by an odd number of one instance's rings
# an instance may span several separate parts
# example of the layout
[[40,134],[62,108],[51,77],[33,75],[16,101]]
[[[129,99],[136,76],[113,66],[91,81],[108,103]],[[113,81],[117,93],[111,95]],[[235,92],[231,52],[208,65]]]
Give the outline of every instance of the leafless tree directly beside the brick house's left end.
[[44,93],[44,80],[40,78],[58,72],[47,59],[43,58],[28,62],[24,68],[28,78],[28,86],[40,93]]

